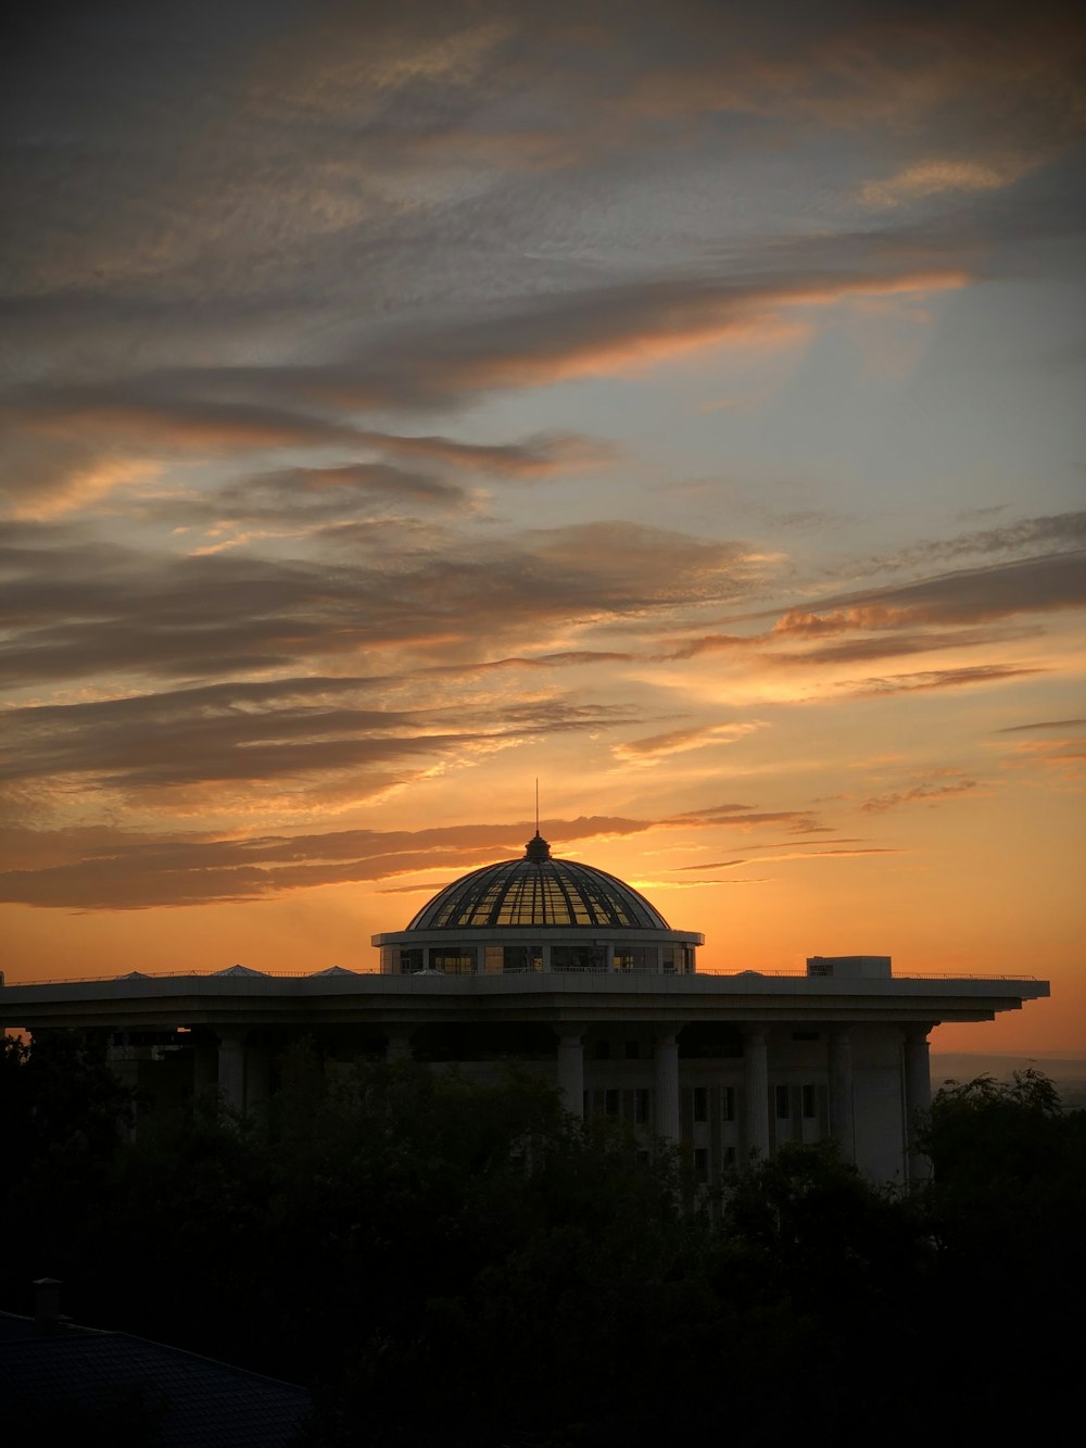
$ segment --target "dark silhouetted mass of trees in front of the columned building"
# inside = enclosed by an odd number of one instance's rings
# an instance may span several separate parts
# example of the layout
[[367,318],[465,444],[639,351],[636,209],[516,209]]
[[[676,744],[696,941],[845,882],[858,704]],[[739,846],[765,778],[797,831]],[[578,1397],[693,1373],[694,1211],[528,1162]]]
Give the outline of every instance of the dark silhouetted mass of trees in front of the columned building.
[[[934,1176],[833,1144],[715,1193],[549,1087],[281,1061],[266,1119],[148,1116],[72,1032],[7,1040],[0,1306],[304,1383],[300,1444],[879,1444],[1035,1435],[1077,1392],[1086,1112],[948,1083]],[[151,1439],[148,1439],[151,1441]]]

